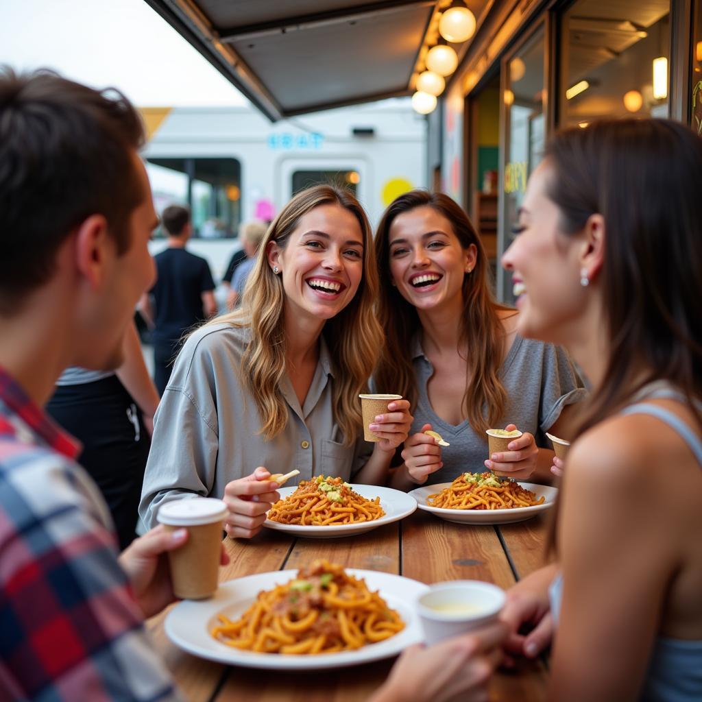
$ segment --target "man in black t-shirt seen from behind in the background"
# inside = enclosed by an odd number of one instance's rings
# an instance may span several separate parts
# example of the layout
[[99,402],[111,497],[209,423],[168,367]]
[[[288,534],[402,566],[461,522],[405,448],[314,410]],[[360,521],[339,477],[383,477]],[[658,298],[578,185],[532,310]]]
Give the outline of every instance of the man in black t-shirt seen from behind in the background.
[[166,390],[185,333],[217,311],[207,261],[185,250],[192,234],[190,211],[180,205],[168,206],[161,213],[161,224],[168,234],[168,246],[154,257],[156,283],[139,304],[152,329],[154,382],[159,395]]

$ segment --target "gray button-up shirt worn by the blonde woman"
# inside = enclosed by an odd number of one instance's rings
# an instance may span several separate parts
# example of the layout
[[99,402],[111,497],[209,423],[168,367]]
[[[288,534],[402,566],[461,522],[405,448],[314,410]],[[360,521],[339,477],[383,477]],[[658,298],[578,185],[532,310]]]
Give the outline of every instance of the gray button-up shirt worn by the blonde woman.
[[324,338],[303,406],[284,376],[278,392],[289,411],[286,428],[270,441],[259,433],[263,422],[256,403],[239,380],[250,338],[248,328],[214,324],[195,331],[183,345],[154,416],[139,506],[148,527],[156,524],[166,501],[221,497],[228,482],[258,465],[272,473],[297,468],[296,481],[322,473],[350,479],[368,460],[373,444],[361,435],[355,445],[344,446],[333,419],[334,371]]

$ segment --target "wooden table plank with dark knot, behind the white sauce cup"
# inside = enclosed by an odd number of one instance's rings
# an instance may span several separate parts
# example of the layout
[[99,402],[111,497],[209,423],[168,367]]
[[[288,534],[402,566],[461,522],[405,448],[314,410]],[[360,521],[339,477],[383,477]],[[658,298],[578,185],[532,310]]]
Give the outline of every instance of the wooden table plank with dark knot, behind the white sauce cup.
[[422,583],[484,580],[501,588],[515,581],[494,527],[453,524],[422,510],[402,522],[402,575]]

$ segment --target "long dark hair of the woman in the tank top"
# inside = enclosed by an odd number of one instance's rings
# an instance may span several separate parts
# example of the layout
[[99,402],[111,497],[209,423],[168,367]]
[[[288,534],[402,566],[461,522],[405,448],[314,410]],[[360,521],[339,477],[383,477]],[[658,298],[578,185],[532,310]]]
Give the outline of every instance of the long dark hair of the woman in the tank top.
[[545,159],[559,229],[581,232],[595,213],[606,228],[600,276],[611,347],[581,431],[651,380],[680,388],[694,411],[692,397],[702,397],[702,140],[667,119],[598,121],[557,133]]

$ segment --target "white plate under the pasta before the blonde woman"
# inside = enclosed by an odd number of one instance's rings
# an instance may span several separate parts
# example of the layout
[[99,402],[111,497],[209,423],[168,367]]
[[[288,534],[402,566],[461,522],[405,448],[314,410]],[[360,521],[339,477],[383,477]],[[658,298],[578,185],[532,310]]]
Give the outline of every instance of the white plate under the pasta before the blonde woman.
[[[276,531],[285,531],[292,536],[305,536],[307,538],[337,538],[339,536],[351,536],[352,534],[364,534],[366,531],[381,527],[383,524],[397,522],[407,515],[411,515],[417,508],[416,501],[408,494],[399,490],[392,490],[389,487],[378,487],[377,485],[352,485],[351,488],[359,495],[368,500],[380,498],[380,507],[385,512],[385,517],[375,519],[373,522],[360,522],[359,524],[339,524],[337,527],[300,527],[299,524],[279,524],[266,519],[263,526]],[[297,486],[282,487],[279,489],[281,499],[293,494]]]

